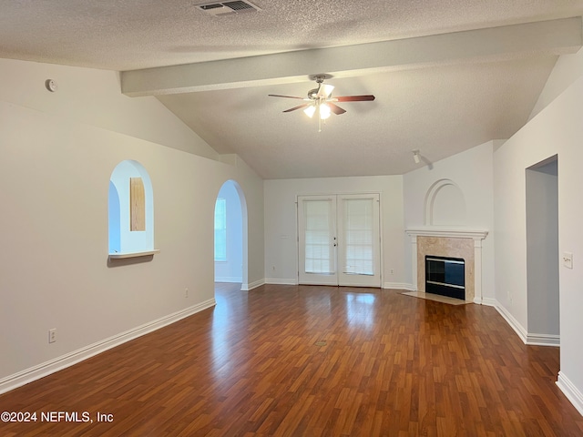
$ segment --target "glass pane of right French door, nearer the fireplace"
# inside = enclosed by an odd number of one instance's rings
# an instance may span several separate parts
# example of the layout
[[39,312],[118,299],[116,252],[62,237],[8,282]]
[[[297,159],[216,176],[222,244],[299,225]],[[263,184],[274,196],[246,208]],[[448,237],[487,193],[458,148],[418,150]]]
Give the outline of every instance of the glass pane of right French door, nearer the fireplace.
[[373,275],[373,199],[345,198],[343,240],[346,247],[343,272]]

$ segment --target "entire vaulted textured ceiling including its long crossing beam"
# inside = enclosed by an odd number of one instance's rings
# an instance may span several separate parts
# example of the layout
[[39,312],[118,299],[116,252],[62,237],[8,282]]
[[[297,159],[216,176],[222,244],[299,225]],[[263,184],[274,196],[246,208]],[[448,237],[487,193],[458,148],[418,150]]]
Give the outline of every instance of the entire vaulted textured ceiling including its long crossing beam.
[[[480,46],[455,32],[583,14],[583,0],[256,0],[260,12],[223,17],[201,12],[196,0],[0,2],[0,57],[138,70],[131,77],[142,87],[139,95],[157,96],[211,147],[239,154],[263,178],[403,174],[419,166],[414,149],[426,164],[510,137],[526,123],[557,55],[578,47],[547,49],[542,40],[530,47],[533,38],[512,31],[487,36],[492,53],[472,56]],[[551,39],[555,33],[547,32]],[[395,46],[400,62],[393,65],[387,60],[393,46],[381,46],[383,61],[366,64],[378,46],[364,43],[438,34],[449,39]],[[363,46],[350,56],[313,50],[354,45]],[[514,52],[505,52],[513,45]],[[448,57],[450,50],[455,56]],[[252,80],[238,83],[239,64],[228,60],[249,56],[261,58],[250,59],[249,71],[240,69]],[[211,62],[217,60],[225,62]],[[199,77],[188,79],[212,86],[160,86],[189,70],[148,70],[193,63]],[[152,71],[158,82],[150,88],[143,84]],[[281,113],[296,101],[267,97],[304,97],[315,73],[332,73],[327,82],[336,95],[376,100],[343,104],[347,113],[332,116],[319,133],[302,111]]]

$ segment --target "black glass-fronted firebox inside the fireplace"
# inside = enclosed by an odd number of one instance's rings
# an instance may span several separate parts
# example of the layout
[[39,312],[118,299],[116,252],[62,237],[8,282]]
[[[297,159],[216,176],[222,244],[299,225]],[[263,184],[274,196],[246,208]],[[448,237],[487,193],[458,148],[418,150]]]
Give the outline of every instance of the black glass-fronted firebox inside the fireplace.
[[465,300],[465,261],[425,256],[425,292]]

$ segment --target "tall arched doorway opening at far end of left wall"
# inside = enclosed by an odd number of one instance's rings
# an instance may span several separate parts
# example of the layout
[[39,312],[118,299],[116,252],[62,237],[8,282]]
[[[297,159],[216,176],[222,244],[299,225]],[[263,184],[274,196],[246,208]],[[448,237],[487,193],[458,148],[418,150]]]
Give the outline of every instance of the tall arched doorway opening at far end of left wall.
[[215,202],[215,282],[240,283],[249,290],[247,202],[240,185],[226,181]]

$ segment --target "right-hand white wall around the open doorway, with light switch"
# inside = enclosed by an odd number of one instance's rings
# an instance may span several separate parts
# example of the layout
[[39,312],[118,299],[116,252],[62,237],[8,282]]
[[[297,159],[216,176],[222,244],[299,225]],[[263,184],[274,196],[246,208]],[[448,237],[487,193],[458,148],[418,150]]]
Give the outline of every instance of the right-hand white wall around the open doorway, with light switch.
[[583,413],[583,77],[494,153],[496,300],[527,327],[525,168],[558,156],[559,254],[573,254],[573,269],[559,269],[559,386]]

